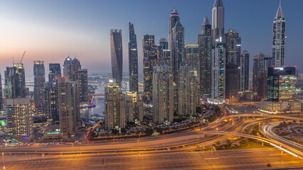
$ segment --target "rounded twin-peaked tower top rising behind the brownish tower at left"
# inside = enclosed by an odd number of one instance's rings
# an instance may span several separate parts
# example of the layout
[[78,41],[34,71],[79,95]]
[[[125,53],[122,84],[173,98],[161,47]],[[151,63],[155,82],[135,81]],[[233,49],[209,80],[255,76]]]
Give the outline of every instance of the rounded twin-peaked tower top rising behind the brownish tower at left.
[[63,75],[65,77],[68,77],[70,81],[78,80],[78,69],[81,69],[81,64],[76,57],[74,59],[69,56],[65,58],[63,64]]

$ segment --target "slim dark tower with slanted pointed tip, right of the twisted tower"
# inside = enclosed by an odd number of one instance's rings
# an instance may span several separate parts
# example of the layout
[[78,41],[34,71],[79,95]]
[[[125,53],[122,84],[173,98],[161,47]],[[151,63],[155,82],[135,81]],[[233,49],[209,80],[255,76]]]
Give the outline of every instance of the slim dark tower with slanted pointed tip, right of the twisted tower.
[[138,91],[138,50],[137,36],[134,34],[134,24],[129,23],[129,91]]

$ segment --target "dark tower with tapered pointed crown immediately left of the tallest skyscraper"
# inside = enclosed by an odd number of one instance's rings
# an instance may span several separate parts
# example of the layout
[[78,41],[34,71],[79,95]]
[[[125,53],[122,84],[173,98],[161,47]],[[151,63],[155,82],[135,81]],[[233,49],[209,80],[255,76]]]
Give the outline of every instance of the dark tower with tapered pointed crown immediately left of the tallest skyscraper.
[[211,96],[211,24],[207,17],[204,18],[201,34],[198,35],[198,45],[201,96]]

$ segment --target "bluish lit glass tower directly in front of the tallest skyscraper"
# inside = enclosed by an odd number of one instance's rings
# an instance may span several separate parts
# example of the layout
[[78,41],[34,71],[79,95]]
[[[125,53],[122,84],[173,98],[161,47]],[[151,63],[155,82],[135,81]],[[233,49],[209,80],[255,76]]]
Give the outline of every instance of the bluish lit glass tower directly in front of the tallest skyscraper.
[[225,43],[216,42],[211,63],[211,96],[225,98]]

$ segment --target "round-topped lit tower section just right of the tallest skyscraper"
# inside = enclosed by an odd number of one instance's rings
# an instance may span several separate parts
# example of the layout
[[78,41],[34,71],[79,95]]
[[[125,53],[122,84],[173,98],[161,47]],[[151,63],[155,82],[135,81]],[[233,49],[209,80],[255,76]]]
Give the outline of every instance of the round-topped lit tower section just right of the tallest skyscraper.
[[241,38],[235,30],[228,30],[225,34],[226,64],[234,63],[240,66]]

